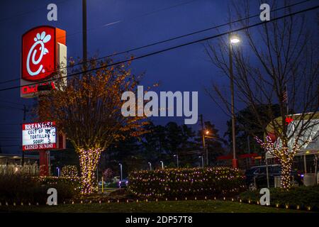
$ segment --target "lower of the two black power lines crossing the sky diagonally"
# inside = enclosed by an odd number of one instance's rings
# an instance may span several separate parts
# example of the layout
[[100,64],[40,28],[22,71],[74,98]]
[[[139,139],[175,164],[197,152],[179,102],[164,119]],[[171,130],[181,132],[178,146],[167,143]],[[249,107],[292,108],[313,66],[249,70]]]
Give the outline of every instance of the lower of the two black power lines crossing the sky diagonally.
[[[308,8],[308,9],[303,9],[303,10],[301,10],[301,11],[296,11],[296,12],[294,12],[294,13],[289,13],[289,14],[286,14],[286,15],[284,15],[284,16],[279,16],[279,17],[273,18],[272,21],[277,21],[277,20],[279,20],[279,19],[286,18],[286,17],[288,17],[288,16],[294,16],[294,15],[296,15],[296,14],[304,13],[304,12],[306,12],[306,11],[311,11],[311,10],[318,9],[318,8],[319,8],[319,5],[318,5],[318,6],[313,6],[313,7],[310,7],[310,8]],[[157,50],[157,51],[155,51],[155,52],[150,52],[150,53],[148,53],[148,54],[146,54],[146,55],[140,55],[140,56],[138,56],[138,57],[130,58],[130,59],[127,59],[127,60],[122,60],[122,61],[120,61],[120,62],[115,62],[115,63],[112,63],[112,64],[110,64],[110,65],[103,65],[103,66],[101,66],[101,67],[95,67],[95,68],[92,68],[92,69],[89,69],[89,70],[84,70],[84,71],[82,71],[82,72],[76,72],[76,73],[73,73],[73,74],[69,74],[69,75],[66,75],[66,76],[62,76],[62,77],[60,77],[60,78],[63,79],[63,78],[67,78],[67,77],[73,77],[73,76],[76,76],[76,75],[79,75],[79,74],[86,74],[86,73],[88,73],[88,72],[92,72],[92,71],[95,71],[95,70],[100,70],[100,69],[103,69],[103,68],[105,68],[105,67],[111,67],[111,66],[114,66],[114,65],[120,65],[120,64],[123,64],[123,63],[125,63],[125,62],[130,62],[130,61],[133,61],[133,60],[142,59],[142,58],[144,58],[144,57],[150,57],[150,56],[152,56],[152,55],[157,55],[157,54],[162,53],[162,52],[167,52],[167,51],[169,51],[169,50],[174,50],[174,49],[177,49],[177,48],[181,48],[181,47],[184,47],[184,46],[186,46],[186,45],[192,45],[192,44],[194,44],[194,43],[200,43],[200,42],[203,42],[203,41],[206,41],[206,40],[211,40],[212,38],[218,38],[218,37],[220,37],[220,36],[228,35],[228,34],[230,34],[230,33],[236,33],[236,32],[238,32],[238,31],[242,31],[242,30],[245,30],[245,29],[248,29],[248,28],[253,28],[253,27],[256,27],[256,26],[260,26],[260,25],[262,25],[262,24],[269,23],[269,22],[270,22],[270,21],[262,21],[262,22],[259,22],[259,23],[254,23],[254,24],[252,24],[252,25],[250,25],[250,26],[245,26],[245,27],[242,27],[242,28],[237,28],[237,29],[234,29],[234,30],[232,30],[232,31],[225,32],[225,33],[219,33],[218,35],[208,36],[208,37],[206,37],[206,38],[201,38],[201,39],[199,39],[199,40],[194,40],[194,41],[191,41],[191,42],[189,42],[189,43],[183,43],[183,44],[180,44],[180,45],[175,45],[175,46],[173,46],[173,47],[171,47],[171,48],[165,48],[165,49],[162,49],[162,50]],[[35,82],[35,83],[33,83],[33,84],[28,84],[28,85],[31,86],[31,85],[35,85],[35,84],[42,84],[42,83],[45,83],[45,82],[52,82],[53,80],[55,80],[55,79],[47,79],[47,80],[42,81],[42,82]],[[23,86],[20,85],[20,86],[15,86],[15,87],[8,87],[8,88],[5,88],[5,89],[0,89],[0,92],[4,92],[4,91],[7,91],[7,90],[11,90],[11,89],[18,89],[18,88],[21,88],[21,87],[23,87]]]

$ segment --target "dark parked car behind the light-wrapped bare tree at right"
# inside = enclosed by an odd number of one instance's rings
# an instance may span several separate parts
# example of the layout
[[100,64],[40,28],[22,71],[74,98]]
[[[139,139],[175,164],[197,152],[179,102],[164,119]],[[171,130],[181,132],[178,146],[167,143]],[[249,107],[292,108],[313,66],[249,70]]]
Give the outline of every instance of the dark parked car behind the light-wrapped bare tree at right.
[[[274,187],[274,177],[280,177],[281,165],[268,165],[269,187]],[[303,184],[303,175],[292,170],[293,185],[299,186]],[[246,185],[248,189],[254,190],[267,187],[267,166],[255,166],[246,170]]]

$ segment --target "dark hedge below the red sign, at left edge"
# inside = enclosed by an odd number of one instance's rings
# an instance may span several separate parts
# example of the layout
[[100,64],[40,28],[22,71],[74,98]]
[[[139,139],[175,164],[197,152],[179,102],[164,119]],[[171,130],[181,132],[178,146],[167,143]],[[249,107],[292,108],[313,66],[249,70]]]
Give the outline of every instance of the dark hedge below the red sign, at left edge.
[[[12,204],[45,204],[47,189],[57,189],[57,202],[73,199],[78,183],[66,178],[31,177],[30,175],[0,175],[0,202]],[[74,190],[75,189],[75,190]]]

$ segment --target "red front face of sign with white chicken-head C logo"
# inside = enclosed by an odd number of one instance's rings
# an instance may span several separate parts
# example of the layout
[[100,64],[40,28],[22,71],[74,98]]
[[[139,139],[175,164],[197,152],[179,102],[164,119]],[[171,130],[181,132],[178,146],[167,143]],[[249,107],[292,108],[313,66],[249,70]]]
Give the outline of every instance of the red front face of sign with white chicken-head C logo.
[[33,28],[22,38],[22,79],[39,81],[56,70],[55,28]]

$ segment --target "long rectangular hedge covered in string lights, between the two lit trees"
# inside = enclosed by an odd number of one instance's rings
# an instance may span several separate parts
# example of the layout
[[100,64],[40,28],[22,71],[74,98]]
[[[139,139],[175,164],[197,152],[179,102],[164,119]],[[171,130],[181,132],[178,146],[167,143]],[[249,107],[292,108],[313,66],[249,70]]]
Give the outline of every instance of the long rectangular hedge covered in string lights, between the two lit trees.
[[225,196],[245,190],[242,172],[229,167],[131,172],[128,192],[148,198]]

